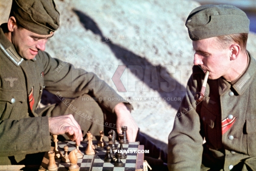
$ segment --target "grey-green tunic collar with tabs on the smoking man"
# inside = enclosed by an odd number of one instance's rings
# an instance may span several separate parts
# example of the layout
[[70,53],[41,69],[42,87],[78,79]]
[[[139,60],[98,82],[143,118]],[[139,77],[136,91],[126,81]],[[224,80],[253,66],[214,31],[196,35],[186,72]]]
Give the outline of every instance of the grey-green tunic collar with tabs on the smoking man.
[[[256,60],[254,58],[251,58],[250,52],[247,51],[247,53],[248,57],[250,58],[249,66],[244,74],[241,76],[241,78],[239,78],[239,80],[232,85],[234,90],[236,90],[236,93],[238,93],[239,95],[242,95],[244,93],[244,90],[250,85],[251,81],[253,80],[253,75],[256,72]],[[220,95],[226,93],[226,91],[229,90],[231,87],[230,83],[227,82],[224,78],[219,78],[218,82]]]

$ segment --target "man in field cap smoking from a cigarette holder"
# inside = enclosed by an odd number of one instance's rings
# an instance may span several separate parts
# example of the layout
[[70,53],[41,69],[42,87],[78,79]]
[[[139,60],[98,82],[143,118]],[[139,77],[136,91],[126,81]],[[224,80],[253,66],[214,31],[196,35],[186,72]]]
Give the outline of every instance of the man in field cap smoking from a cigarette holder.
[[[203,5],[189,14],[195,66],[169,135],[170,171],[256,170],[256,61],[246,50],[249,23],[230,5]],[[207,71],[204,99],[196,101]]]

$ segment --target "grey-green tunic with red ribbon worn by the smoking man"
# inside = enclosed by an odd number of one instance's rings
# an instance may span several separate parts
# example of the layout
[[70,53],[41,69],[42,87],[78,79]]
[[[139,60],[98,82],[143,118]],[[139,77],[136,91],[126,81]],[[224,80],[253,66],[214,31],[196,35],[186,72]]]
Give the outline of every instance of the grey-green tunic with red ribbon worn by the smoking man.
[[250,57],[235,84],[208,80],[206,97],[197,103],[203,80],[194,66],[169,135],[169,170],[256,170],[256,60]]

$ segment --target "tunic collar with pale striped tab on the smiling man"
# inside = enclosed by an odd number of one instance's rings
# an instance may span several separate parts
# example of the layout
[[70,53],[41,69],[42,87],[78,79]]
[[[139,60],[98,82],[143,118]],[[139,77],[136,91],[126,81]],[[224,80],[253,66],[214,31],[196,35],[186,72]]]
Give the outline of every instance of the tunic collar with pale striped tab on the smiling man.
[[[15,47],[13,44],[6,38],[6,35],[4,34],[3,30],[7,29],[7,23],[3,23],[0,26],[0,49],[3,51],[3,53],[18,67],[20,64],[24,61],[20,55],[18,55]],[[32,59],[32,61],[35,61],[36,58]]]

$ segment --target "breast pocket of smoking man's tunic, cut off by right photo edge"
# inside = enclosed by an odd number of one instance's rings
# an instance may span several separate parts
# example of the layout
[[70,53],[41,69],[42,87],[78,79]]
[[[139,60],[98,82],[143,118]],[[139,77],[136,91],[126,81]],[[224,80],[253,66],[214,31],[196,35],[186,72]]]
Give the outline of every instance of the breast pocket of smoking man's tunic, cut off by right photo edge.
[[247,151],[250,156],[256,155],[256,119],[246,120]]

